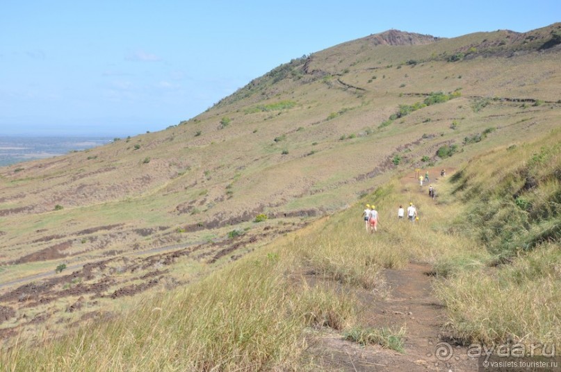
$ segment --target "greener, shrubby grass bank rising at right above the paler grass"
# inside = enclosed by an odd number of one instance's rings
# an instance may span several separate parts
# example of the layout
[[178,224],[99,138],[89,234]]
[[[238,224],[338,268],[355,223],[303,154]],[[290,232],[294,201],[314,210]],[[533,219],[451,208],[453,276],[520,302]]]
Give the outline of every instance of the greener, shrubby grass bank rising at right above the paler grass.
[[501,259],[561,239],[561,135],[555,133],[541,146],[478,158],[455,179],[469,230]]

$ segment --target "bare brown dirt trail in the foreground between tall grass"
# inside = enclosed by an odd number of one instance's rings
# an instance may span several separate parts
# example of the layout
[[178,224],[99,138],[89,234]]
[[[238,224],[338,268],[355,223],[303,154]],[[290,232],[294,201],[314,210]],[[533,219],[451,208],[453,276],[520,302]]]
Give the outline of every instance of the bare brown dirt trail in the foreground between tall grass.
[[360,346],[337,332],[314,339],[309,349],[325,371],[477,371],[477,360],[464,347],[449,344],[443,335],[444,307],[432,294],[427,264],[410,263],[405,269],[384,271],[389,295],[364,291],[361,305],[368,327],[405,329],[405,353],[377,345]]

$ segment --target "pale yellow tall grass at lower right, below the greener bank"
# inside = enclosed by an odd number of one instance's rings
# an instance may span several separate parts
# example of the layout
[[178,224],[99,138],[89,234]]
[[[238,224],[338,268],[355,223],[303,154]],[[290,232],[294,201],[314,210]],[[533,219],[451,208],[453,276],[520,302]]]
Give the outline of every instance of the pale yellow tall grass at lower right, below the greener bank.
[[460,271],[437,282],[437,296],[446,305],[455,337],[466,344],[558,342],[560,248],[546,244],[495,271]]

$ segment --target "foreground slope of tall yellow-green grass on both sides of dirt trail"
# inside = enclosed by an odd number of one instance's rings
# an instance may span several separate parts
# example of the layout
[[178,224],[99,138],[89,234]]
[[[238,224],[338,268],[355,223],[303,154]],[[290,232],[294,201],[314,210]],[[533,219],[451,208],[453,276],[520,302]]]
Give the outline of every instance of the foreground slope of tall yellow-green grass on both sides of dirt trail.
[[[434,180],[437,201],[412,176],[394,178],[348,210],[200,282],[145,298],[111,321],[40,348],[13,348],[0,365],[45,371],[314,370],[309,343],[318,337],[380,344],[407,358],[407,320],[376,329],[368,326],[368,314],[388,296],[384,270],[409,261],[434,267],[434,285],[450,316],[444,332],[457,342],[555,344],[561,332],[555,290],[561,280],[560,140],[561,131],[554,130],[539,142],[482,154]],[[535,180],[532,187],[524,186],[528,177]],[[517,203],[521,198],[528,204]],[[406,201],[417,205],[417,223],[396,219],[396,206]],[[375,235],[366,233],[360,218],[366,202],[380,211]],[[497,210],[495,203],[513,209]],[[487,214],[474,212],[482,205]],[[526,213],[539,217],[525,223],[512,218]],[[515,256],[505,255],[503,240],[487,239],[491,225],[517,230]]]

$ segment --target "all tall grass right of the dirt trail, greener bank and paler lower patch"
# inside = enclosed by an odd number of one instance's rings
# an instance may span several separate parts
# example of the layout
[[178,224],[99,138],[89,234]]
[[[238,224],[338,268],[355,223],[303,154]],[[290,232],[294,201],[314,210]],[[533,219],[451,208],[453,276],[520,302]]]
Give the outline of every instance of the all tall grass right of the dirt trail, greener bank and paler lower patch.
[[436,285],[455,336],[466,343],[558,342],[560,140],[554,130],[537,143],[496,149],[451,178],[450,192],[464,208],[450,229],[473,237],[489,259]]

